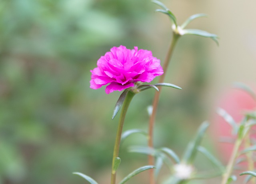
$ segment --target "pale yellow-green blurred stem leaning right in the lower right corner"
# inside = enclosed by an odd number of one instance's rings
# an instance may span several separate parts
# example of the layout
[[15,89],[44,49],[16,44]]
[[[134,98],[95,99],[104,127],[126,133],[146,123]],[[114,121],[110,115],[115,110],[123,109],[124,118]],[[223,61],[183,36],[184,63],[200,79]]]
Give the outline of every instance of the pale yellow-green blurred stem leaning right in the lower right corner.
[[230,175],[232,174],[233,168],[234,168],[234,164],[236,161],[236,157],[238,154],[238,150],[239,147],[242,143],[242,138],[238,138],[235,142],[234,148],[233,148],[233,152],[230,156],[230,160],[228,162],[228,166],[226,167],[226,172],[223,174],[223,178],[222,178],[222,182],[221,184],[226,184],[228,182],[228,178],[230,177]]

